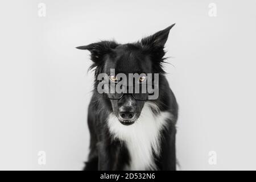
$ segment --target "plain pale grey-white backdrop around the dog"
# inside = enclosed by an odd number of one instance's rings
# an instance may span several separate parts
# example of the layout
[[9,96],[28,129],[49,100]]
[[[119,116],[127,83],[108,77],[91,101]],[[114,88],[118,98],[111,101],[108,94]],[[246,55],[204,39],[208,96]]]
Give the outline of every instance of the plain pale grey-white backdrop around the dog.
[[256,169],[255,8],[253,0],[1,1],[0,169],[80,170],[93,73],[89,52],[75,47],[135,42],[172,23],[166,71],[180,106],[181,169]]

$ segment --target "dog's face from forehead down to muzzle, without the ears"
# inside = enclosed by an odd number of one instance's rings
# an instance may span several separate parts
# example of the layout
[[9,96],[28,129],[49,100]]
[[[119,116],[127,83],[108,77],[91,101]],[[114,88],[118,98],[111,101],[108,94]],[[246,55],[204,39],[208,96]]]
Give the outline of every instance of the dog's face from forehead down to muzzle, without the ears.
[[[105,57],[104,63],[103,72],[109,76],[111,76],[110,69],[115,70],[115,75],[123,73],[127,78],[129,73],[138,73],[138,75],[152,73],[150,58],[143,54],[141,48],[133,44],[117,46]],[[119,100],[110,100],[110,102],[118,120],[123,125],[131,125],[139,118],[145,101],[135,100],[132,94],[123,94]]]

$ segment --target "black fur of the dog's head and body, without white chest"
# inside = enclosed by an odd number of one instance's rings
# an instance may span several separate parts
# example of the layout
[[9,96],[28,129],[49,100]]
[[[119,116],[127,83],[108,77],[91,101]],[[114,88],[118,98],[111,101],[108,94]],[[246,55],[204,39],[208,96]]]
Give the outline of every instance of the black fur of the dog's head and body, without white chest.
[[[137,43],[118,44],[113,41],[103,41],[77,47],[90,51],[93,61],[90,69],[95,68],[95,79],[99,73],[109,74],[110,68],[115,68],[118,73],[159,73],[159,98],[146,102],[154,102],[160,111],[168,111],[174,116],[168,119],[167,130],[160,131],[161,152],[159,156],[154,154],[155,164],[159,170],[176,169],[175,124],[178,107],[163,71],[164,44],[173,26],[174,24]],[[125,143],[112,138],[106,118],[110,113],[114,113],[118,117],[119,108],[126,104],[128,98],[130,100],[133,98],[126,94],[118,101],[108,100],[97,92],[97,83],[95,80],[93,96],[88,109],[90,152],[84,169],[122,170],[126,164],[129,164],[130,154]],[[139,117],[144,103],[145,101],[133,100],[135,117]]]

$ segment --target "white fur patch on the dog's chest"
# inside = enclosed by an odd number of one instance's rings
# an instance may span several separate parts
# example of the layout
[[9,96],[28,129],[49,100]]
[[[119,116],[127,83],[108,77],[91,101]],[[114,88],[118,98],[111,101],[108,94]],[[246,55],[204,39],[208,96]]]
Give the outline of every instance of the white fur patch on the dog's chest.
[[126,143],[130,154],[130,165],[127,170],[156,169],[153,151],[160,152],[160,130],[166,126],[166,119],[171,117],[168,112],[154,114],[150,107],[155,105],[146,103],[141,116],[133,125],[122,125],[114,114],[110,114],[108,126],[114,138]]

